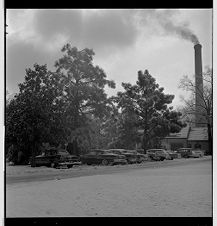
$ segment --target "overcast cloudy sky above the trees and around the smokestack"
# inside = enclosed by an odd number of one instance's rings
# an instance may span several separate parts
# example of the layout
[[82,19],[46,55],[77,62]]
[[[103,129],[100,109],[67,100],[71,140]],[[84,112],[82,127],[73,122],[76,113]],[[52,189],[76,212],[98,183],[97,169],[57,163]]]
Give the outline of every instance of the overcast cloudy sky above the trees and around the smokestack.
[[18,92],[25,68],[47,64],[62,56],[70,43],[78,49],[91,48],[94,63],[123,90],[139,70],[148,69],[165,93],[174,94],[183,75],[194,74],[194,43],[202,45],[203,68],[212,67],[212,10],[7,10],[6,88]]

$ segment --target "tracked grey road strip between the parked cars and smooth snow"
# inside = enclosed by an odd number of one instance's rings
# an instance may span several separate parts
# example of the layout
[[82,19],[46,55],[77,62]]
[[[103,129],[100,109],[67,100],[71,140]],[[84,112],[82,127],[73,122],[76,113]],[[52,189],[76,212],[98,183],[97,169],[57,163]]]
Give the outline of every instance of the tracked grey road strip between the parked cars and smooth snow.
[[210,160],[209,156],[205,156],[200,159],[174,159],[165,161],[146,161],[142,164],[132,164],[132,165],[116,165],[116,166],[74,166],[70,169],[53,169],[50,167],[34,167],[30,165],[25,166],[6,166],[6,183],[20,183],[20,182],[31,182],[31,181],[45,181],[45,180],[55,180],[91,175],[102,175],[119,173],[122,171],[132,170],[132,169],[145,169],[145,168],[158,168],[158,167],[168,167],[177,165],[188,165],[198,163],[200,161]]

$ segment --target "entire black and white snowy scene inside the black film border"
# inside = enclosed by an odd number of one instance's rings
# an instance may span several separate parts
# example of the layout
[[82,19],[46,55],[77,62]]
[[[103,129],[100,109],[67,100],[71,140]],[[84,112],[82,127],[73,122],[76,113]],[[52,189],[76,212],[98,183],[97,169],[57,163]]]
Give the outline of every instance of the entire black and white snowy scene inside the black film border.
[[5,215],[213,216],[213,10],[6,9]]

